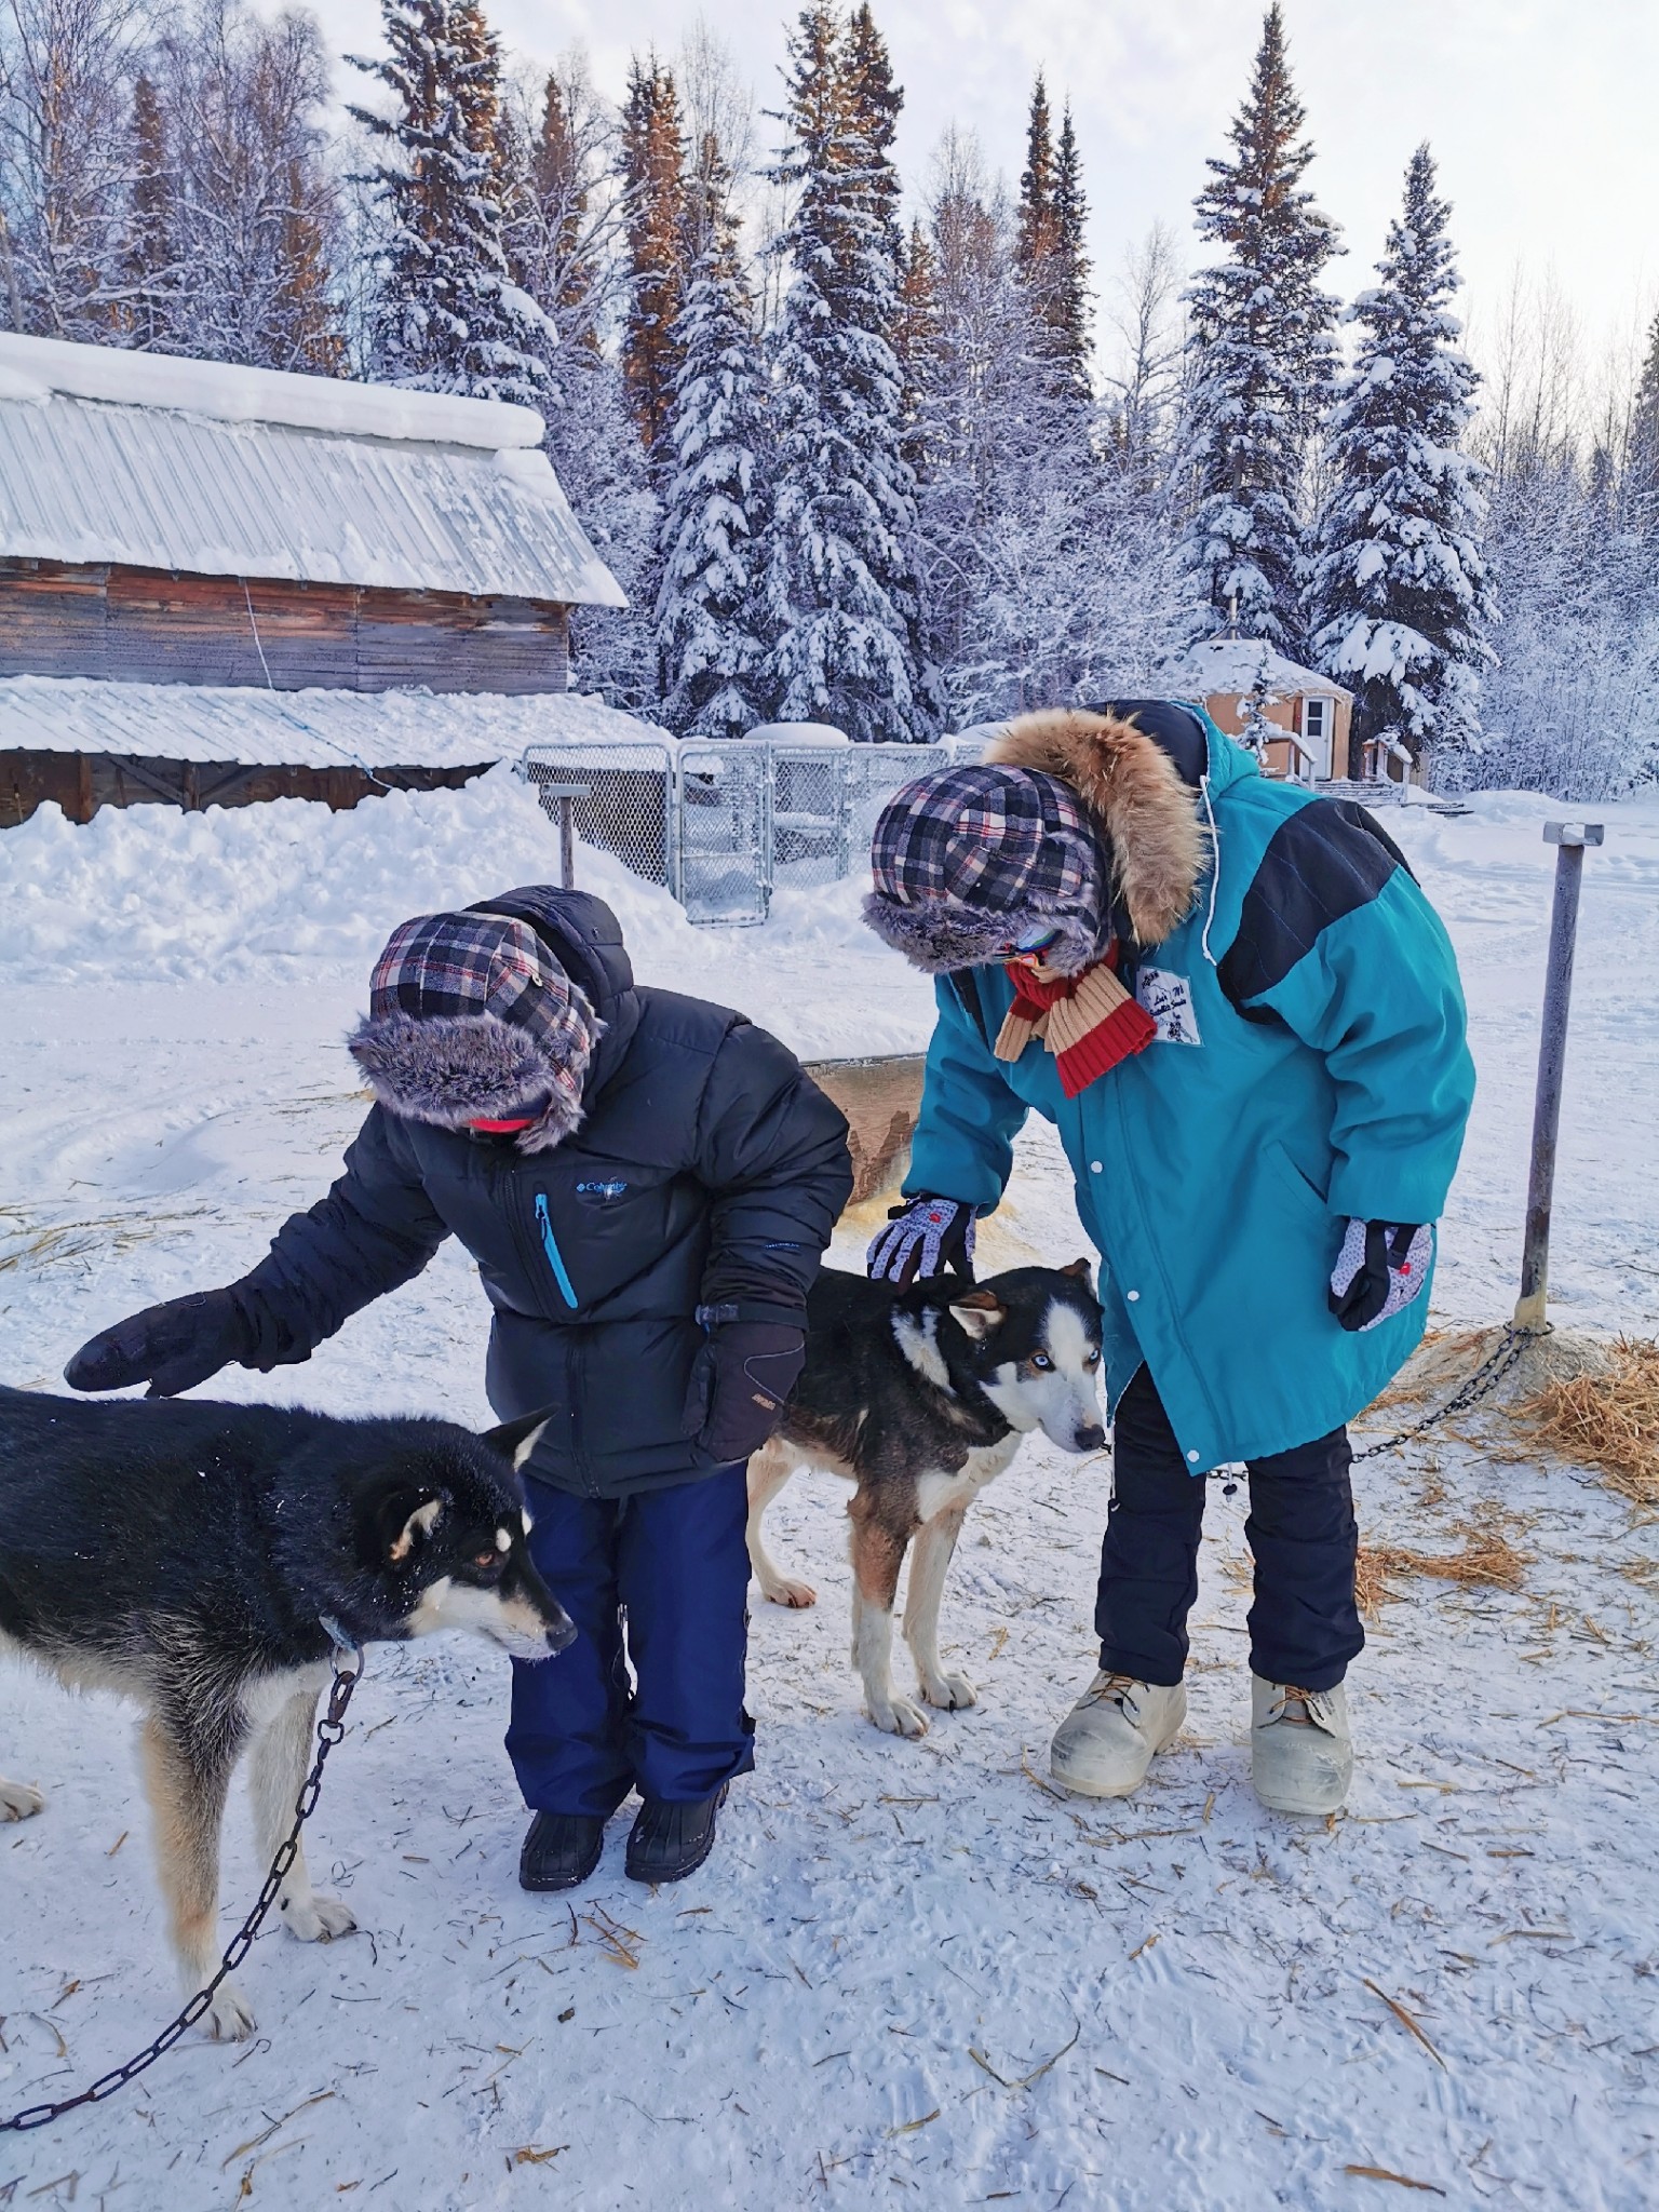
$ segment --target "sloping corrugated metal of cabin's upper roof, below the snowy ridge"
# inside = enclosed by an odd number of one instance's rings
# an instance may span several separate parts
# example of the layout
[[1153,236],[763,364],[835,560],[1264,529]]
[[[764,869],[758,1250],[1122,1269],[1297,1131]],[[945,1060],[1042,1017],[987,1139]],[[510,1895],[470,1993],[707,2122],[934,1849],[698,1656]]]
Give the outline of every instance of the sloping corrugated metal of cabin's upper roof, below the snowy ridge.
[[540,451],[223,420],[15,374],[0,376],[0,555],[626,606]]

